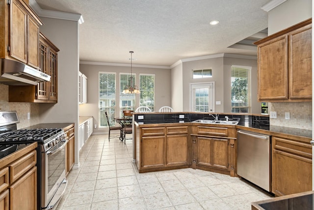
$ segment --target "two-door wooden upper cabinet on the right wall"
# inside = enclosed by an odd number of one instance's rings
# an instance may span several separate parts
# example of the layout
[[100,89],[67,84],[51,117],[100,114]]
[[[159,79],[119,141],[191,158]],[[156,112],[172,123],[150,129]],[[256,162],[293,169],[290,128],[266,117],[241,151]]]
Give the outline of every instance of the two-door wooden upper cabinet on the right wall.
[[259,101],[312,100],[312,19],[255,42]]

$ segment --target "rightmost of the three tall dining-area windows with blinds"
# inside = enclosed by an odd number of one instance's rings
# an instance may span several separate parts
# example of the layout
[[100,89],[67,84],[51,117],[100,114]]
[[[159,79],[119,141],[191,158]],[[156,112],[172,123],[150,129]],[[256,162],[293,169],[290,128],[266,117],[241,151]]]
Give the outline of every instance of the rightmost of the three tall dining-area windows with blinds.
[[140,106],[147,106],[155,111],[155,74],[139,75]]

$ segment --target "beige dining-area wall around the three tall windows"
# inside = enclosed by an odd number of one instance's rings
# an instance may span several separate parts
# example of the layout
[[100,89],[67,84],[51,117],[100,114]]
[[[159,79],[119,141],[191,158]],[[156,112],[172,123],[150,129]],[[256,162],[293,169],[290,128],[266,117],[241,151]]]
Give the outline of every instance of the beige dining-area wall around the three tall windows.
[[[116,72],[117,80],[119,72],[130,73],[131,68],[126,66],[115,65],[91,65],[80,64],[80,72],[87,77],[87,103],[79,105],[79,116],[92,116],[97,129],[94,133],[104,133],[105,129],[98,129],[98,72]],[[132,73],[136,74],[135,84],[139,87],[139,73],[155,74],[155,105],[156,111],[162,106],[171,106],[171,71],[170,69],[148,68],[148,67],[132,67]],[[119,84],[119,81],[117,81]],[[117,85],[117,91],[120,87]],[[139,94],[136,96],[136,107],[139,106]],[[118,98],[117,98],[118,100]],[[118,104],[118,102],[116,103]],[[116,107],[116,113],[119,113],[119,107]]]

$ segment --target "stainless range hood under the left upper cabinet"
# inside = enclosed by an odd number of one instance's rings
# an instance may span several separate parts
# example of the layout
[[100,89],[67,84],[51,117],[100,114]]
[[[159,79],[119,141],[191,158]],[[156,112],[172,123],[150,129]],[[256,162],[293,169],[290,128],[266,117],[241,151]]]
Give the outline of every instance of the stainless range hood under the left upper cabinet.
[[51,76],[25,63],[15,60],[0,59],[0,84],[5,85],[37,85],[49,82]]

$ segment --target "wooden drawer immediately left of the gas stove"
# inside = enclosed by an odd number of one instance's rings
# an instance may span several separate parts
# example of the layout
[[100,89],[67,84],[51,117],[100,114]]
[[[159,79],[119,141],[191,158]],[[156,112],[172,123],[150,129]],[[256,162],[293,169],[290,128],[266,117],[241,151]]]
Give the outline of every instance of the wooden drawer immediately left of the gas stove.
[[9,165],[10,183],[13,183],[14,181],[18,180],[35,165],[36,165],[36,150],[28,153],[24,157],[13,162],[11,165]]

